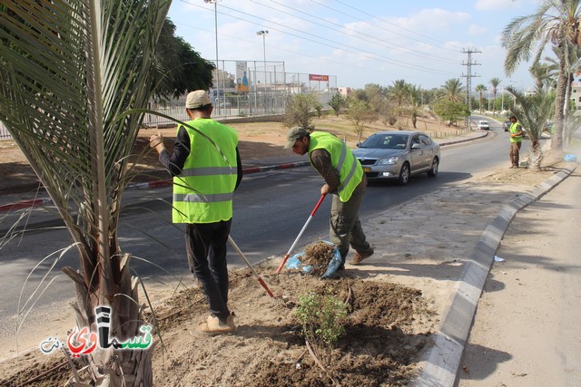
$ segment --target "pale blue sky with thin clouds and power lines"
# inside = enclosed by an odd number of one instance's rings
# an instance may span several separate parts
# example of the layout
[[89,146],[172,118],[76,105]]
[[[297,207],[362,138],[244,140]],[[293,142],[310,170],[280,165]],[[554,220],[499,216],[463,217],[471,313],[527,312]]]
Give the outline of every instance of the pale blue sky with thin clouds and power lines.
[[[168,17],[176,35],[219,61],[283,62],[286,73],[335,76],[337,87],[391,86],[397,80],[423,89],[458,78],[471,89],[501,80],[533,87],[522,63],[508,76],[500,35],[513,19],[535,13],[539,0],[173,0]],[[259,31],[268,34],[259,35]],[[233,73],[233,72],[232,72]]]

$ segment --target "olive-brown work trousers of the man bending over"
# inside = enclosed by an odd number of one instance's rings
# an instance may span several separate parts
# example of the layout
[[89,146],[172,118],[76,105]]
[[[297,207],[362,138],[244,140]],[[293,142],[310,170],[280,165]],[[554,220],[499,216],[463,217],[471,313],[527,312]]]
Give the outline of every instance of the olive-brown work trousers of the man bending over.
[[350,246],[359,253],[370,248],[359,222],[359,207],[365,196],[366,186],[367,180],[361,180],[346,202],[342,202],[338,195],[333,195],[330,206],[330,241],[339,248],[341,266],[345,265]]

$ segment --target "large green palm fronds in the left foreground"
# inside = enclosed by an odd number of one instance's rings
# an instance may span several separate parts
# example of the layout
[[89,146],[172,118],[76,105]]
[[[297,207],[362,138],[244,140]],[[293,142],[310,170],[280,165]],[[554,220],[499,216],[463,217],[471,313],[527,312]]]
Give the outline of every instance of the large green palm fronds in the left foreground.
[[0,120],[80,244],[85,275],[96,267],[95,251],[105,261],[115,253],[108,243],[141,115],[116,117],[144,108],[152,95],[155,42],[169,5],[5,0],[0,7]]

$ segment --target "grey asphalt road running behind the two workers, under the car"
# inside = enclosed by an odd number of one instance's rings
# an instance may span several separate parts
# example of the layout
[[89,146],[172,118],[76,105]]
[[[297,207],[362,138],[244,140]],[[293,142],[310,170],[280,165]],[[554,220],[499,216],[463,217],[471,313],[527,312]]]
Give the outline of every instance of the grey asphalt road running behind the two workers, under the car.
[[[500,123],[491,123],[493,131],[487,138],[443,147],[436,178],[422,174],[412,178],[405,187],[394,182],[370,183],[359,213],[363,227],[367,217],[404,202],[413,206],[414,198],[506,166],[507,133],[502,131]],[[252,263],[286,254],[320,198],[321,185],[322,179],[310,167],[278,169],[251,174],[243,179],[234,200],[231,237]],[[151,189],[139,195],[145,200],[143,205],[126,211],[119,230],[123,251],[134,256],[133,270],[146,281],[168,278],[190,281],[192,275],[184,257],[182,227],[171,224],[170,205],[167,204],[171,189]],[[313,240],[329,236],[330,201],[330,198],[323,201],[297,245],[298,251]],[[64,229],[51,229],[26,233],[0,250],[0,282],[5,289],[0,298],[0,330],[14,328],[18,305],[22,309],[37,286],[36,295],[30,301],[39,298],[34,306],[37,309],[50,307],[74,295],[72,282],[60,268],[78,266],[75,248],[62,255],[54,253],[46,257],[47,252],[59,251],[70,243]],[[232,266],[243,265],[233,249],[229,253],[229,262]],[[39,266],[30,274],[36,265]],[[46,275],[52,265],[52,272]]]

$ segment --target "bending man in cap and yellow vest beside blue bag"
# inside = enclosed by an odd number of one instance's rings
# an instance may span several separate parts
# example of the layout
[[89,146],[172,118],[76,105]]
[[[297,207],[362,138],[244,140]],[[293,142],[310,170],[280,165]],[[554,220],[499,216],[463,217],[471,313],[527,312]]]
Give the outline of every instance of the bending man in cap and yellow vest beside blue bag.
[[367,178],[349,147],[336,136],[324,131],[307,131],[295,127],[287,133],[284,149],[304,155],[314,169],[325,180],[320,194],[332,194],[330,208],[330,241],[340,251],[339,270],[345,269],[345,260],[350,247],[356,251],[349,261],[359,265],[363,259],[373,255],[365,233],[359,222],[359,207],[365,196]]

